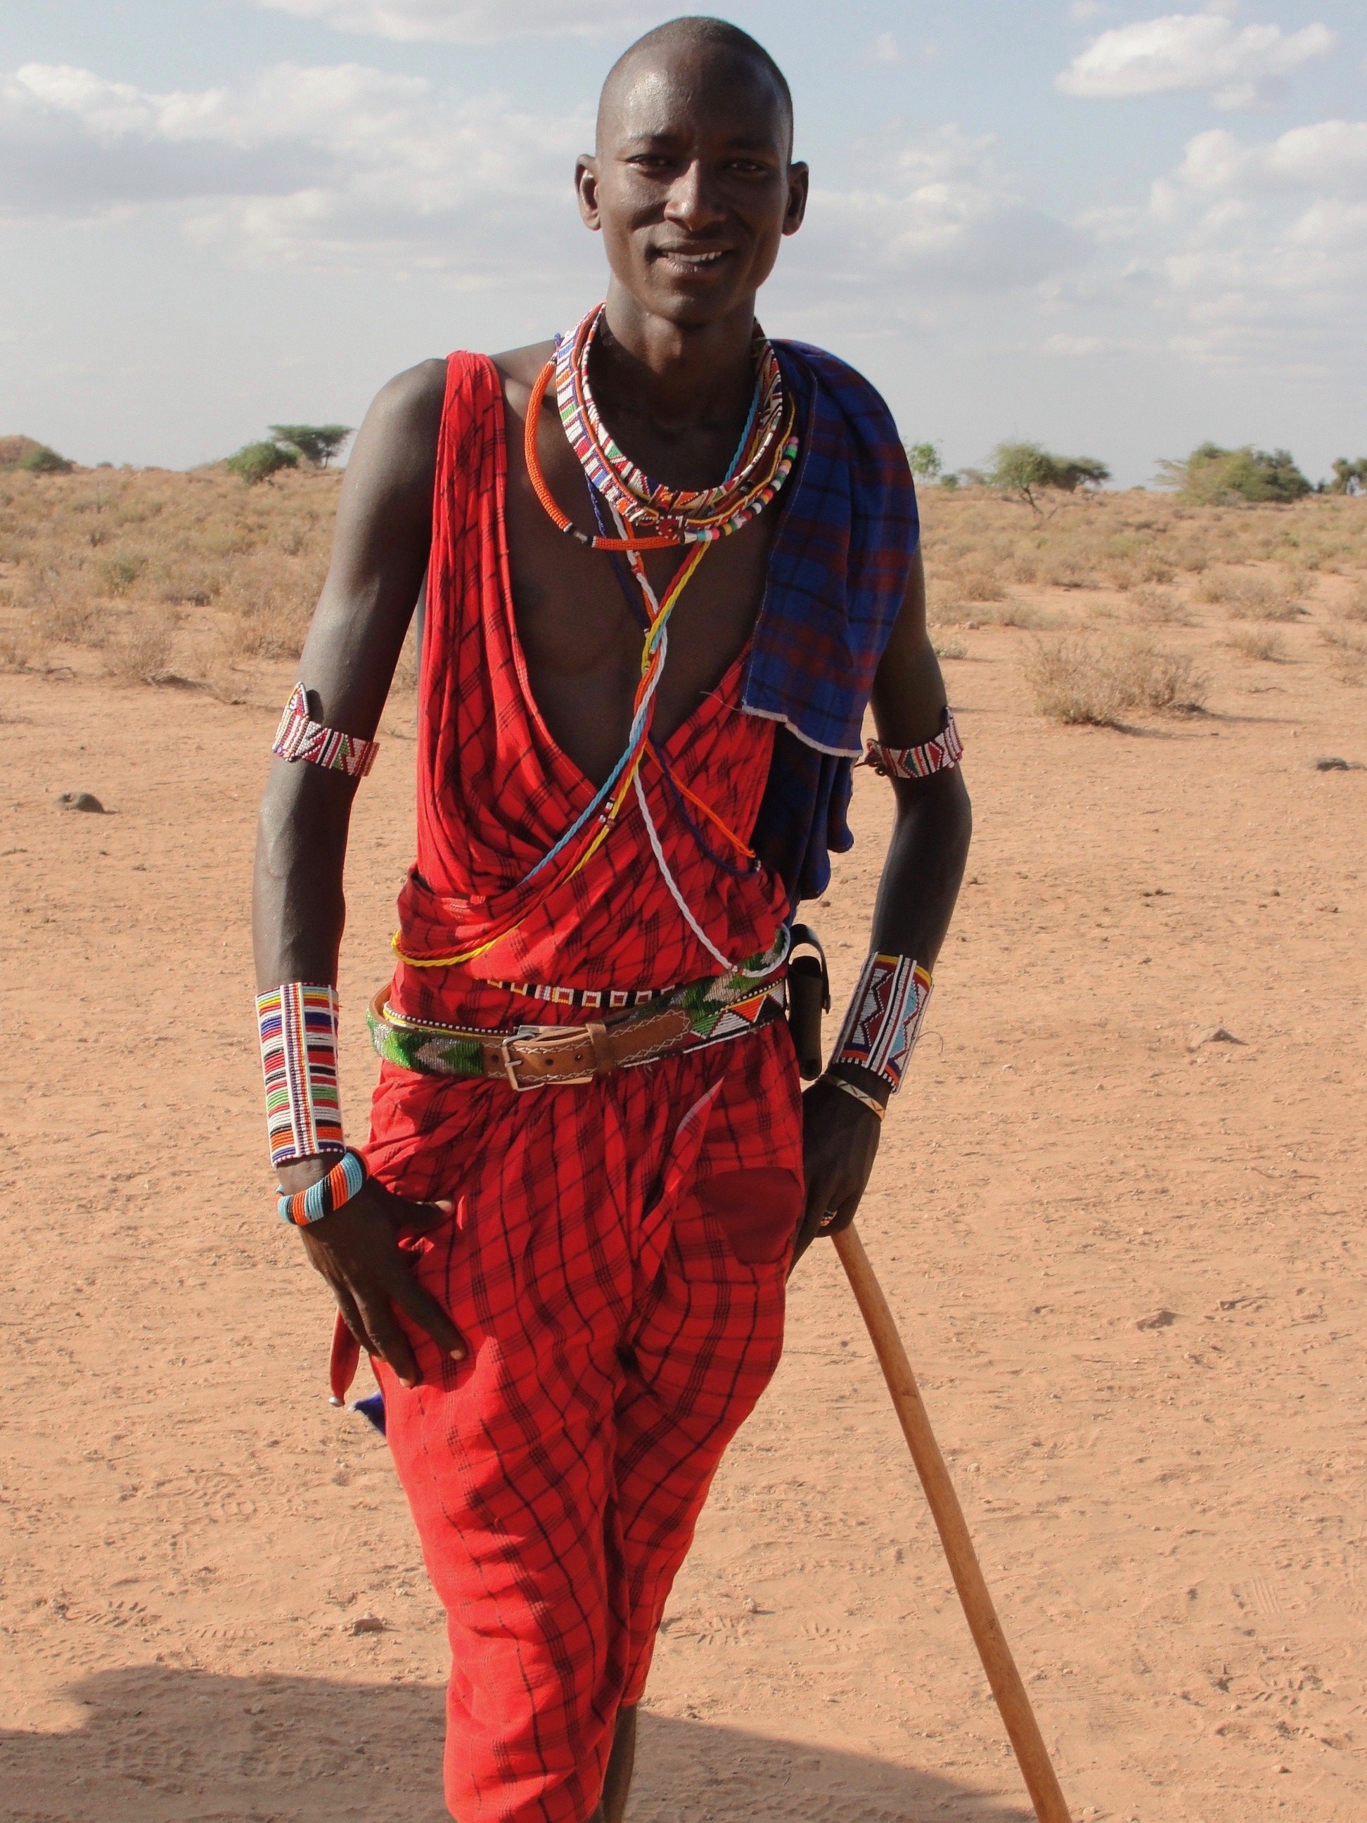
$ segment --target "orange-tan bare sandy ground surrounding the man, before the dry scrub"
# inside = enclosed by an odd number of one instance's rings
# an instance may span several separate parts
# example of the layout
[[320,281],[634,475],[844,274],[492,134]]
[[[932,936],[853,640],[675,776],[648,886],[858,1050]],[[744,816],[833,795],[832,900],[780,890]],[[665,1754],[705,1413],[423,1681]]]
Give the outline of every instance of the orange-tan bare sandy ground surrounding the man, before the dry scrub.
[[[1310,762],[1367,760],[1367,691],[1309,629],[1281,665],[1218,633],[1174,634],[1210,713],[1136,731],[1041,722],[1024,636],[964,634],[977,844],[862,1231],[1075,1814],[1362,1823],[1367,771]],[[248,857],[286,685],[0,689],[15,1823],[445,1814],[441,1617],[383,1444],[326,1404],[326,1293],[262,1165]],[[354,1123],[410,850],[396,716],[352,850]],[[886,819],[862,777],[838,992]],[[829,1249],[647,1708],[634,1823],[1026,1814]]]

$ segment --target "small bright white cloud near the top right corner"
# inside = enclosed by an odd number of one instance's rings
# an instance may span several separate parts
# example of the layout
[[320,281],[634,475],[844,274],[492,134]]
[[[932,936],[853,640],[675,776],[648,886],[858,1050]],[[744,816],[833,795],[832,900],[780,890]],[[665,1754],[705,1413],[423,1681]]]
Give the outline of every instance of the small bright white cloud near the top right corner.
[[1201,89],[1218,108],[1250,108],[1336,44],[1329,26],[1283,33],[1236,26],[1219,13],[1165,13],[1103,31],[1057,77],[1057,88],[1103,98]]

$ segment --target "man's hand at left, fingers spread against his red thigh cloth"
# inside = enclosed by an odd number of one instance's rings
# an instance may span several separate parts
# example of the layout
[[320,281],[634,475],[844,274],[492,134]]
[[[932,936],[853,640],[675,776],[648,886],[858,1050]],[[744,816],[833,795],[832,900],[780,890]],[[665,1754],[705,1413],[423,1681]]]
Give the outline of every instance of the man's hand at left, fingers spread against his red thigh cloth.
[[310,1263],[332,1285],[346,1327],[366,1354],[377,1354],[408,1387],[417,1385],[423,1373],[396,1307],[425,1329],[443,1354],[454,1362],[467,1354],[459,1329],[417,1283],[397,1243],[401,1232],[427,1234],[441,1227],[454,1207],[410,1203],[366,1178],[341,1209],[299,1231]]

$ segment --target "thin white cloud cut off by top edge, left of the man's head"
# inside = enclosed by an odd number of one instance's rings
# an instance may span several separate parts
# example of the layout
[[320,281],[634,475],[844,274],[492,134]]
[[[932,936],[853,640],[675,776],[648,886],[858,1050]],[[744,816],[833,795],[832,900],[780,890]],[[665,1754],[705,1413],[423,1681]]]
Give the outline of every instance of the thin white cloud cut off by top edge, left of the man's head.
[[669,16],[658,5],[629,0],[257,0],[257,5],[370,38],[441,44],[640,31]]

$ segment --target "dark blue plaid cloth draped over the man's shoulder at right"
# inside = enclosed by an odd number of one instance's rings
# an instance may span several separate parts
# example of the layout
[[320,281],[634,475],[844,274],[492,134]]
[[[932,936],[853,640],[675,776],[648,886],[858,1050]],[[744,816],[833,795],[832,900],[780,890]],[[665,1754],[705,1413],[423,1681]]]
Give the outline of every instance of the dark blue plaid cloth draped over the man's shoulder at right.
[[853,846],[849,767],[920,521],[906,450],[873,386],[822,348],[776,341],[775,352],[802,454],[780,496],[740,700],[780,724],[751,844],[795,908],[826,891],[831,851]]

